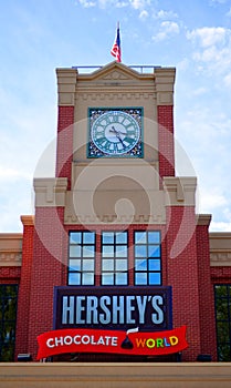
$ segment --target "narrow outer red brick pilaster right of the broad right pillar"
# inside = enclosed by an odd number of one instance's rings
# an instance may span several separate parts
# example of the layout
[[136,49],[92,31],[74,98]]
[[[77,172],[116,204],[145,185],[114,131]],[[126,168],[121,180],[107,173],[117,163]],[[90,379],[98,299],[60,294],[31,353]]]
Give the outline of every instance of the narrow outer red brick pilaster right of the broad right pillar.
[[201,354],[217,360],[214,297],[210,275],[209,232],[207,225],[197,226],[198,276],[200,298]]

